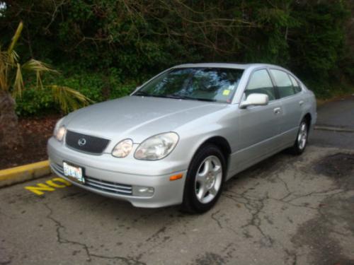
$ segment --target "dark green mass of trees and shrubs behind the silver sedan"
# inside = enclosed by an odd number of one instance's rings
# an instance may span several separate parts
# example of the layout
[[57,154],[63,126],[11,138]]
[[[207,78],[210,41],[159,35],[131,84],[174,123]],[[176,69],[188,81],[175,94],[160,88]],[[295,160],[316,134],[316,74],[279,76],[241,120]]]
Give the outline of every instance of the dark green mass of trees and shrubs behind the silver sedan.
[[[25,59],[59,66],[63,76],[52,83],[96,102],[127,95],[169,66],[202,61],[280,64],[321,98],[343,80],[354,86],[350,0],[148,2],[16,0],[0,16],[0,37],[11,41],[8,28],[23,20]],[[25,102],[18,112],[49,104]]]

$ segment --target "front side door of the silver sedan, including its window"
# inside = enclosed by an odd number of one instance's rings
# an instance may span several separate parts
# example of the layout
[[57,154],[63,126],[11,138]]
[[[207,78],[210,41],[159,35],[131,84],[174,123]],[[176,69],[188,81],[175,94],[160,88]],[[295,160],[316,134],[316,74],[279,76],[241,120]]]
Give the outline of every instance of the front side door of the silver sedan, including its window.
[[266,69],[256,70],[251,74],[243,100],[251,93],[268,95],[269,103],[237,110],[238,139],[234,146],[236,153],[230,165],[231,171],[236,170],[236,167],[244,168],[256,163],[278,148],[277,136],[280,134],[282,108]]

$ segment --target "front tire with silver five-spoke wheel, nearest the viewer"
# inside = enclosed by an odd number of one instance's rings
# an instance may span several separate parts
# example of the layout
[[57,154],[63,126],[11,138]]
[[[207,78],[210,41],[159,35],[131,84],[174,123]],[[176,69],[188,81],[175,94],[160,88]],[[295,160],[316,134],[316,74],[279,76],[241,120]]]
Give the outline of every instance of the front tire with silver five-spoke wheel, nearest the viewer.
[[222,192],[225,172],[222,151],[212,144],[202,146],[188,168],[181,210],[188,213],[209,211]]

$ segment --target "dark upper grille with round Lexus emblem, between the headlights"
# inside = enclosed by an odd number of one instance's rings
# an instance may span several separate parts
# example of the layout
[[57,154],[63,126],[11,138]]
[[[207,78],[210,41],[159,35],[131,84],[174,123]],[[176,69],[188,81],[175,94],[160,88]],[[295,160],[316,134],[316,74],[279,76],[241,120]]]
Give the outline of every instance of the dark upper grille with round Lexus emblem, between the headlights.
[[74,131],[67,131],[65,141],[67,146],[70,146],[79,151],[94,154],[103,153],[109,143],[109,140],[107,139],[89,136],[86,134],[79,134]]

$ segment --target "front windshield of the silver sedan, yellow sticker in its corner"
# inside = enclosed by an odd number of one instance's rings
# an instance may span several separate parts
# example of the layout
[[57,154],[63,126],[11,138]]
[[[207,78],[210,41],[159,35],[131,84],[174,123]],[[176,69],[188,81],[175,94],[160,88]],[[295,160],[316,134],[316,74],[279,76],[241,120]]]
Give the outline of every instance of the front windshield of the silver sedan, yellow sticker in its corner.
[[231,102],[244,70],[181,68],[161,74],[134,95],[185,100]]

